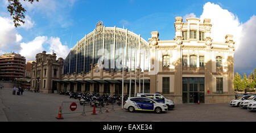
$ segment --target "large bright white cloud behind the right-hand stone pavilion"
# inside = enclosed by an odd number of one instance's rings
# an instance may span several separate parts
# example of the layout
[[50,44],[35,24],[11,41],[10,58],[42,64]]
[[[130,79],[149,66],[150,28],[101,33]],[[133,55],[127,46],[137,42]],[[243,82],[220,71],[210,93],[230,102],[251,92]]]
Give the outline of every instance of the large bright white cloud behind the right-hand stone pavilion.
[[214,3],[205,3],[201,22],[204,18],[211,19],[214,42],[225,42],[227,34],[233,35],[236,42],[234,67],[236,71],[253,71],[256,66],[256,16],[242,24],[232,12],[221,8]]

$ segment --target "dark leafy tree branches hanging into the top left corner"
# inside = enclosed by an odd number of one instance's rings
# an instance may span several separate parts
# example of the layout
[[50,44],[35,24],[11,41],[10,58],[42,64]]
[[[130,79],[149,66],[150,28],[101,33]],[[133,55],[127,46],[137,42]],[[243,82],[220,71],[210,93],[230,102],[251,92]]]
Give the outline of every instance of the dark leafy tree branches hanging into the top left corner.
[[10,16],[13,16],[13,22],[15,27],[20,26],[19,22],[22,22],[23,24],[25,23],[23,19],[25,19],[24,13],[26,12],[26,10],[22,6],[20,1],[28,1],[31,4],[34,1],[39,2],[39,0],[8,0],[9,6],[7,7],[7,9],[10,12]]

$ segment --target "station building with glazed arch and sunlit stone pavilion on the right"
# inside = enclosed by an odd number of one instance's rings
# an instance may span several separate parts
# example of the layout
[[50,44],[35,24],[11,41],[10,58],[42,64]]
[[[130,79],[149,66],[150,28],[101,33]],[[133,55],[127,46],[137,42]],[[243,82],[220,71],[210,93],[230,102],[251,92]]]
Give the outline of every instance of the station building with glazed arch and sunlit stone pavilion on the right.
[[210,19],[175,19],[174,40],[159,40],[159,33],[151,32],[149,42],[98,22],[67,55],[60,76],[49,80],[49,89],[121,95],[123,81],[128,96],[160,92],[176,104],[232,100],[233,36],[214,42]]

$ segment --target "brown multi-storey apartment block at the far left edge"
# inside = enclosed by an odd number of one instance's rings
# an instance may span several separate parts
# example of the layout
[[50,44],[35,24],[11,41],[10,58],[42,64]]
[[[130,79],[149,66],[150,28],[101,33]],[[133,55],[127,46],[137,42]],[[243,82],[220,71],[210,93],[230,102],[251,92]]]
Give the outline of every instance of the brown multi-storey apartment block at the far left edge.
[[6,53],[0,56],[0,80],[15,81],[24,78],[26,58],[16,53]]

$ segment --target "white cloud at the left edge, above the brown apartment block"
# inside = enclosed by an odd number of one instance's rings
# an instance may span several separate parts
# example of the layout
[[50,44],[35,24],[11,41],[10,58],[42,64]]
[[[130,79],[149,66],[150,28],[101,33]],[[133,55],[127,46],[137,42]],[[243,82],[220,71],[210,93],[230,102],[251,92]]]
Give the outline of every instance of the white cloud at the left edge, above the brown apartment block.
[[0,16],[0,48],[6,48],[7,44],[13,44],[22,40],[14,27],[14,23],[9,18]]

